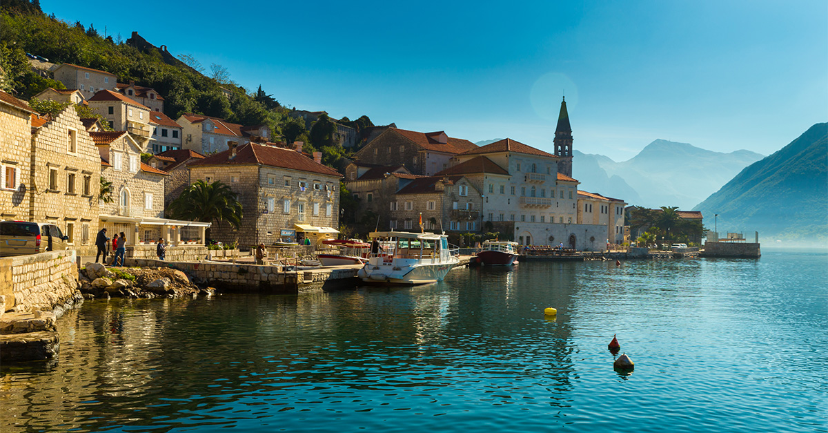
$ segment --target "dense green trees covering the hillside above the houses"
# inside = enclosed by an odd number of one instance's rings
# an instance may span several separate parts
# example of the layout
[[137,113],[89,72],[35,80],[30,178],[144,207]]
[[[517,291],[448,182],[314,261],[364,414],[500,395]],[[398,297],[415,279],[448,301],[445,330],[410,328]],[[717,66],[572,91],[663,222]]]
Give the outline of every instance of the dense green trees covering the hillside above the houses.
[[[113,16],[114,17],[114,16]],[[102,26],[99,26],[99,28]],[[137,29],[140,30],[140,29]],[[190,56],[184,61],[161,51],[140,36],[122,41],[120,35],[102,36],[92,24],[70,24],[46,16],[37,0],[3,0],[0,3],[0,89],[22,100],[29,100],[47,87],[65,88],[60,83],[42,78],[31,71],[26,53],[47,58],[55,63],[72,63],[118,76],[118,82],[131,80],[137,85],[152,87],[164,96],[165,114],[178,119],[183,113],[205,114],[245,125],[267,124],[274,135],[284,141],[304,141],[306,151],[323,150],[328,158],[337,159],[344,151],[332,146],[335,127],[330,119],[320,123],[319,130],[306,129],[304,120],[293,119],[262,87],[248,91],[231,80],[220,65],[205,68]],[[230,90],[229,98],[222,88]],[[373,126],[367,116],[341,122],[361,132]],[[330,149],[323,149],[331,147]]]

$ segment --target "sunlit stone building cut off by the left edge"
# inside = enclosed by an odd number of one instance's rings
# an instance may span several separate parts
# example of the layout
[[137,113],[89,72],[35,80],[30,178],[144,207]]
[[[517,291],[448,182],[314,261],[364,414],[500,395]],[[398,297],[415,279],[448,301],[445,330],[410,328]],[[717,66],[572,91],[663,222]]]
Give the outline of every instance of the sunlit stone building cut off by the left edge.
[[0,220],[29,219],[32,111],[0,90]]

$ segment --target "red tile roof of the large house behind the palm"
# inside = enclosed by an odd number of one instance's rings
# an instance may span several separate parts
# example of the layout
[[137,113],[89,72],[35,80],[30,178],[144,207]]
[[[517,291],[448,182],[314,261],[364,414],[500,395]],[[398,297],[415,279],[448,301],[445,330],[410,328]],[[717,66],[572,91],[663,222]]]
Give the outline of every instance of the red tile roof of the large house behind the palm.
[[270,167],[289,168],[301,172],[320,173],[328,176],[341,178],[333,168],[315,162],[305,155],[286,148],[278,148],[273,145],[248,143],[236,149],[236,157],[229,158],[230,150],[216,153],[207,158],[193,161],[190,167],[207,165],[228,165],[228,164],[261,164]]

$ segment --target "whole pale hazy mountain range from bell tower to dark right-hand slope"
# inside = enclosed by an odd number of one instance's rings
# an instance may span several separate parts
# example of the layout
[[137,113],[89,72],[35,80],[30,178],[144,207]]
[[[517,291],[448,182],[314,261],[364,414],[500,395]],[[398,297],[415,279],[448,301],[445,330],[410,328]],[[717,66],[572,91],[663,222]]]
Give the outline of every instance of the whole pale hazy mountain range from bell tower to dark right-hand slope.
[[573,157],[572,177],[580,181],[582,191],[620,198],[631,205],[689,210],[763,155],[748,150],[713,152],[658,139],[621,163],[577,150]]

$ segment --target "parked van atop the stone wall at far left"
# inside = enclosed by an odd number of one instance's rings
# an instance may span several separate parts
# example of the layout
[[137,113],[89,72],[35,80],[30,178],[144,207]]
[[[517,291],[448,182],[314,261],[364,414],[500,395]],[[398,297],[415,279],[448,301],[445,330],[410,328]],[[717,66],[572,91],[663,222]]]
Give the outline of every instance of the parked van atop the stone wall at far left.
[[0,221],[0,257],[67,250],[68,240],[54,224]]

